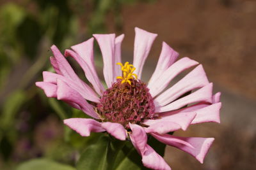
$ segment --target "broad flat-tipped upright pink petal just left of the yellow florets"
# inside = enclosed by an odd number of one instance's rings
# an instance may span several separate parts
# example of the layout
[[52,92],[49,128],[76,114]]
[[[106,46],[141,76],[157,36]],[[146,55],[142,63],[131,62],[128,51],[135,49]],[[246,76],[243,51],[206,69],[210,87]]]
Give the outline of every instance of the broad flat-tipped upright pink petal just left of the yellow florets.
[[115,81],[115,34],[93,34],[97,39],[104,62],[103,74],[108,87]]

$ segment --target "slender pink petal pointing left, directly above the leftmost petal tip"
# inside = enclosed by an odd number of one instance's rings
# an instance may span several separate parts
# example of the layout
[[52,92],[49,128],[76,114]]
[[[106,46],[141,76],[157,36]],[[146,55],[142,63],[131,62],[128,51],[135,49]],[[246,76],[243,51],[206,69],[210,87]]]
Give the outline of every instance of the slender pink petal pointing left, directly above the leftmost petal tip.
[[49,71],[43,71],[43,77],[44,77],[45,82],[49,82],[49,83],[53,83],[53,84],[57,83],[57,79],[65,81],[65,83],[67,83],[68,86],[70,86],[72,89],[79,92],[79,94],[81,96],[83,96],[84,99],[93,101],[95,103],[99,103],[99,97],[97,96],[97,94],[95,94],[95,92],[84,82],[82,82],[82,83],[84,83],[84,85],[83,85],[83,87],[81,87],[81,85],[77,84],[76,81],[72,81],[72,80],[66,78],[65,76],[61,76],[60,74],[51,73]]

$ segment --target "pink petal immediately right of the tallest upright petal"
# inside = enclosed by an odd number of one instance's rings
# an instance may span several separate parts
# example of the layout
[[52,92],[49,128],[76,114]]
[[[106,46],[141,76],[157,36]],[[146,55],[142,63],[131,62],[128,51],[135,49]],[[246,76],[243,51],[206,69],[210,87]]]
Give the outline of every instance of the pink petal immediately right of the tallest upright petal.
[[175,52],[170,46],[163,42],[156,69],[148,81],[148,85],[150,85],[152,82],[155,82],[157,78],[159,78],[159,76],[161,76],[161,74],[163,74],[164,71],[166,71],[166,69],[168,69],[168,67],[170,67],[173,62],[175,62],[175,60],[177,60],[178,56],[179,53]]

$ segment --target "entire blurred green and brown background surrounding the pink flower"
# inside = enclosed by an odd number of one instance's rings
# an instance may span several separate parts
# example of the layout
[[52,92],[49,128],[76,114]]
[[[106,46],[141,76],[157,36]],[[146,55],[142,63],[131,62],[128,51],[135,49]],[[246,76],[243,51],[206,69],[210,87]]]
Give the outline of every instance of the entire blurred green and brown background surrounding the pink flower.
[[[0,169],[38,157],[74,166],[97,134],[85,139],[64,127],[62,120],[79,111],[35,87],[42,71],[52,71],[50,46],[63,52],[93,33],[124,33],[122,57],[131,61],[134,27],[158,34],[143,80],[165,41],[180,57],[202,63],[214,91],[222,92],[221,124],[175,132],[215,138],[205,163],[171,147],[164,159],[173,169],[256,169],[255,16],[253,0],[0,0]],[[102,77],[99,48],[95,60]]]

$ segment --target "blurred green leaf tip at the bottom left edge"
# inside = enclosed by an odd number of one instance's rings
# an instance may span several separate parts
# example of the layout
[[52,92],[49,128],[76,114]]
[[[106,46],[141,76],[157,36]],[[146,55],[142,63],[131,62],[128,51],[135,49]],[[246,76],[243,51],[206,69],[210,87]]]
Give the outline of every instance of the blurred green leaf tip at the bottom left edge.
[[33,159],[24,162],[17,167],[16,170],[75,170],[74,167],[60,164],[48,159]]

